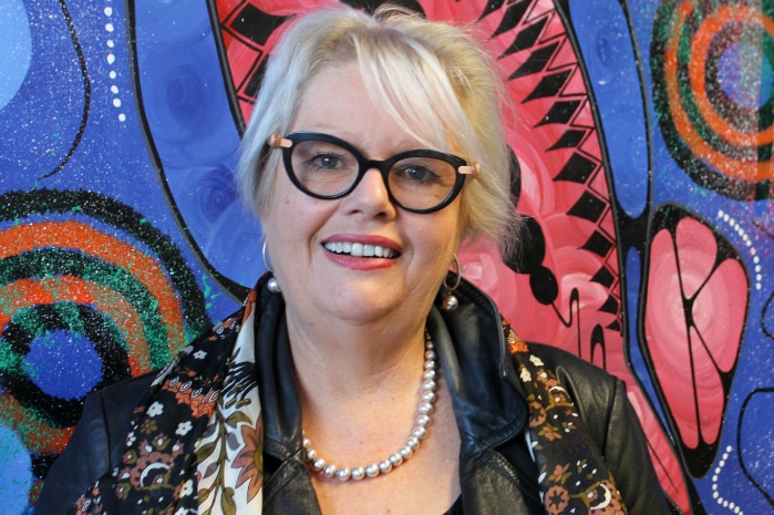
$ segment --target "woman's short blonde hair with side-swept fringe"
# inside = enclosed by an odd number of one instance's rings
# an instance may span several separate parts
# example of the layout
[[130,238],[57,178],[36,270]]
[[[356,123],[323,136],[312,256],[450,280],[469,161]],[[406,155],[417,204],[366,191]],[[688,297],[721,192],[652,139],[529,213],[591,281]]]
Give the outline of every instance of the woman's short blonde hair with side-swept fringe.
[[[310,81],[328,66],[358,63],[367,89],[385,115],[423,145],[481,166],[461,193],[463,238],[491,238],[510,251],[517,215],[505,141],[504,86],[492,56],[462,28],[398,8],[373,16],[326,8],[296,20],[269,58],[242,137],[237,183],[259,218],[274,192],[279,152],[274,133],[289,131]],[[395,80],[400,78],[400,80]]]

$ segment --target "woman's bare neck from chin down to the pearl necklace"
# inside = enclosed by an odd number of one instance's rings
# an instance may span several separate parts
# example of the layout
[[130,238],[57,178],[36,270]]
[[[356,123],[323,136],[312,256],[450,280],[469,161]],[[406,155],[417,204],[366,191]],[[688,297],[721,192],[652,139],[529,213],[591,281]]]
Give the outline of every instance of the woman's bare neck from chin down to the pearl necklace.
[[[417,419],[420,403],[434,402],[422,396],[427,388],[424,321],[416,326],[345,326],[337,337],[326,331],[326,339],[319,332],[310,338],[288,320],[308,451],[345,467],[373,467],[374,460],[383,462],[395,453],[411,457],[401,447],[416,450],[406,437],[417,425],[430,424],[429,418]],[[312,468],[317,465],[310,462]]]

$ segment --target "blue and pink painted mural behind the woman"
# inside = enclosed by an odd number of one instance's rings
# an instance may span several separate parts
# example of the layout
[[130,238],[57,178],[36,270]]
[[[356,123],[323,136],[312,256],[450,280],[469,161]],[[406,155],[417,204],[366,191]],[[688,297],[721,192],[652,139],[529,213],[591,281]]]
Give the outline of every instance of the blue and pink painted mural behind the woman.
[[[332,1],[0,2],[1,513],[34,512],[86,394],[264,271],[239,136]],[[774,1],[401,3],[474,23],[515,107],[524,249],[467,246],[465,276],[626,381],[675,513],[772,513]]]

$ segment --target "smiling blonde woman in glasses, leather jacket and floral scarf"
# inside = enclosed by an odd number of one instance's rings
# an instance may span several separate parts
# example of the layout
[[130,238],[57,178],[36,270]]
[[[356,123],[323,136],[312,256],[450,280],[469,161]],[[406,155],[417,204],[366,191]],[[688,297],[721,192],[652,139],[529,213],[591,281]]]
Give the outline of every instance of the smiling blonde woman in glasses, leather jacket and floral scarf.
[[663,513],[623,385],[460,278],[463,240],[513,245],[497,84],[447,24],[296,21],[239,168],[274,271],[87,400],[41,513]]

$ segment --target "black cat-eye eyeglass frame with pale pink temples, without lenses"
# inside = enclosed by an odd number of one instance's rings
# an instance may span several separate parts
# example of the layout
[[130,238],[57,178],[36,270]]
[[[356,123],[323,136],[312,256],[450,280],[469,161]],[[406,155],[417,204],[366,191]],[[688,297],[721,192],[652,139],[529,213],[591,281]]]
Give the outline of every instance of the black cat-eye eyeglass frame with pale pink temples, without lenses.
[[[298,179],[296,176],[296,172],[292,168],[292,148],[293,145],[297,145],[302,142],[308,142],[308,141],[318,141],[318,142],[323,142],[323,143],[331,143],[334,145],[338,145],[345,151],[348,151],[352,156],[355,158],[358,162],[358,175],[354,178],[354,182],[352,185],[350,185],[347,189],[344,189],[341,193],[337,193],[334,195],[321,195],[319,193],[314,193],[306,188],[301,182]],[[465,184],[465,177],[466,176],[472,176],[472,177],[477,177],[478,174],[481,173],[481,166],[475,163],[472,165],[467,164],[467,161],[463,159],[462,157],[455,156],[453,154],[447,154],[444,152],[440,151],[432,151],[429,148],[417,148],[413,151],[405,151],[398,153],[393,155],[392,157],[389,157],[386,159],[369,159],[365,157],[358,148],[355,148],[351,143],[341,140],[337,136],[332,136],[330,134],[324,134],[324,133],[319,133],[319,132],[311,132],[311,131],[297,131],[297,132],[290,132],[287,133],[285,136],[282,136],[280,133],[274,133],[271,136],[269,136],[269,141],[267,142],[267,145],[269,146],[270,150],[280,150],[282,151],[282,163],[285,164],[285,171],[288,174],[288,177],[290,178],[290,182],[293,183],[293,185],[299,188],[301,192],[305,194],[309,195],[310,197],[314,198],[320,198],[322,200],[334,200],[337,198],[342,198],[349,195],[350,193],[354,192],[354,189],[358,187],[362,178],[365,176],[365,173],[369,172],[370,169],[376,169],[379,173],[382,175],[382,181],[384,181],[384,188],[388,192],[388,197],[390,198],[390,202],[393,203],[394,205],[399,206],[400,208],[407,210],[410,213],[419,213],[419,214],[426,214],[426,213],[435,213],[444,207],[448,206],[454,199],[460,195],[460,192],[462,192],[462,188]],[[409,157],[430,157],[438,161],[443,161],[454,167],[455,172],[455,179],[454,179],[454,186],[452,186],[452,190],[448,193],[446,198],[444,198],[440,204],[433,206],[433,207],[425,207],[422,209],[416,209],[412,207],[406,207],[403,204],[401,204],[392,194],[392,190],[390,189],[390,182],[389,182],[389,174],[390,169],[392,169],[392,166],[398,163],[401,159],[405,159]]]

